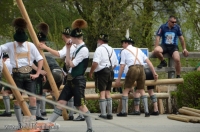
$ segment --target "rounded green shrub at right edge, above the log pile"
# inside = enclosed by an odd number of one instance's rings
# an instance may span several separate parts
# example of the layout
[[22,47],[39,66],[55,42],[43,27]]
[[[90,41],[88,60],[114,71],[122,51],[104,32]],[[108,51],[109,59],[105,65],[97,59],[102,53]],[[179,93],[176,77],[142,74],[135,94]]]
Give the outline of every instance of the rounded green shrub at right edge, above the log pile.
[[176,93],[178,107],[186,106],[200,109],[200,72],[193,71],[183,76],[184,83],[179,84]]

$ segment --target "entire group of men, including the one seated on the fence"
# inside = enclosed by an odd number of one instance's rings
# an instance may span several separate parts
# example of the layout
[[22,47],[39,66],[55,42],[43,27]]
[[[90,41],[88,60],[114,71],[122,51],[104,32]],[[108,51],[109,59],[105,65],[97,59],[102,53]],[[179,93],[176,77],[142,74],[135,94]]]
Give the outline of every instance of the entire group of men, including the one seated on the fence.
[[[45,96],[46,92],[50,92],[54,97],[46,72],[43,70],[43,57],[32,42],[28,42],[28,36],[25,33],[27,23],[23,18],[16,18],[13,21],[15,27],[14,42],[2,44],[0,54],[5,58],[6,66],[16,85],[28,92]],[[74,119],[73,111],[69,111],[69,120],[86,121],[87,131],[93,132],[90,111],[85,104],[85,87],[86,78],[84,76],[89,61],[89,50],[87,44],[83,41],[83,29],[87,28],[87,22],[83,19],[76,19],[72,23],[72,28],[65,28],[62,31],[62,39],[65,43],[61,50],[54,50],[46,45],[49,27],[46,23],[38,24],[37,33],[40,41],[39,48],[50,52],[64,59],[64,67],[61,68],[52,57],[45,56],[54,77],[56,85],[60,88],[64,84],[57,101],[58,104],[68,105],[72,108],[86,114],[80,114]],[[161,45],[159,40],[162,38]],[[170,16],[168,21],[161,25],[157,32],[154,54],[161,60],[158,68],[167,66],[163,58],[164,53],[169,53],[175,61],[175,69],[177,78],[180,78],[180,56],[178,52],[178,38],[180,38],[184,56],[188,56],[186,45],[180,27],[176,24],[176,18]],[[115,80],[116,86],[120,86],[122,73],[126,73],[124,81],[124,89],[122,93],[122,110],[117,113],[118,117],[126,117],[127,115],[140,115],[140,98],[143,101],[145,117],[150,115],[159,115],[157,106],[157,97],[153,90],[154,86],[148,86],[148,93],[153,102],[154,109],[150,113],[148,109],[148,100],[145,95],[145,80],[157,80],[158,74],[154,70],[154,66],[148,57],[137,47],[134,46],[133,38],[127,32],[126,37],[121,40],[122,48],[120,62],[118,62],[115,51],[109,46],[109,36],[102,33],[97,39],[97,48],[94,52],[89,77],[95,80],[96,91],[99,92],[100,115],[102,119],[113,119],[112,114],[112,98],[111,88],[114,80],[114,68],[120,65],[118,78]],[[8,59],[9,56],[9,59]],[[63,83],[64,82],[64,83]],[[137,86],[133,89],[133,84],[137,82]],[[127,113],[128,94],[134,91],[134,111]],[[10,88],[4,87],[2,90],[5,111],[0,116],[11,116],[10,112]],[[46,120],[47,122],[55,122],[62,115],[63,108],[59,105],[54,106],[54,111],[47,119],[45,101],[37,100],[36,97],[29,96],[29,110],[31,115],[35,115],[37,120]],[[14,112],[19,124],[19,129],[23,127],[22,112],[18,102],[14,103]]]

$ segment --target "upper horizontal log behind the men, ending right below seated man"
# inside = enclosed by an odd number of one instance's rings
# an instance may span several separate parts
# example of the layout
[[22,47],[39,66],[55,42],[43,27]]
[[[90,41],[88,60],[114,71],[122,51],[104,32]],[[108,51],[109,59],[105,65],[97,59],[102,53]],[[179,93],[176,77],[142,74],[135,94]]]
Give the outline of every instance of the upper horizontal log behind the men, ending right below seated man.
[[[164,85],[164,84],[181,84],[183,83],[183,78],[174,78],[174,79],[158,79],[157,81],[154,80],[146,80],[145,85],[146,86],[155,86],[155,85]],[[124,82],[121,82],[120,86],[123,86]],[[133,86],[136,86],[136,83],[134,83]],[[60,90],[62,90],[64,85],[60,86]],[[112,83],[112,87],[115,87],[115,82]],[[91,89],[95,88],[95,82],[87,82],[86,83],[86,88]]]

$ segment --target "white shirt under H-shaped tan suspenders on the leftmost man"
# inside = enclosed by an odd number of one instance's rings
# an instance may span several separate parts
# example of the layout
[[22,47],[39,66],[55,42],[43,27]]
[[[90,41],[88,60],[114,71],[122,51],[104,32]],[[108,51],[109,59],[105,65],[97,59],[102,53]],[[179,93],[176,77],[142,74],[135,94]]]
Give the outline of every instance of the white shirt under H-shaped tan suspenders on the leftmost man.
[[43,59],[43,57],[40,55],[36,46],[31,42],[26,41],[22,45],[19,45],[18,42],[16,42],[16,41],[15,42],[8,42],[8,43],[0,46],[0,54],[3,53],[3,52],[8,53],[9,58],[10,58],[10,64],[12,65],[13,68],[16,68],[14,43],[16,45],[16,52],[17,53],[28,52],[27,43],[30,46],[30,62],[28,62],[28,58],[17,59],[18,68],[20,68],[22,66],[28,66],[29,64],[30,64],[30,66],[32,66],[34,60],[36,60],[38,62],[39,60]]

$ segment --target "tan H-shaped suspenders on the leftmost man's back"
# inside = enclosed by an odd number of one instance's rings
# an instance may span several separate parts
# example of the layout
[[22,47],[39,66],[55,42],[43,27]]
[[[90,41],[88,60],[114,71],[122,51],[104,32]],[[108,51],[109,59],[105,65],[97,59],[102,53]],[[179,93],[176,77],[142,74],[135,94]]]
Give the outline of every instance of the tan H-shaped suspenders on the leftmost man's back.
[[28,44],[28,42],[26,42],[26,46],[28,47],[28,52],[21,52],[21,53],[17,53],[15,42],[13,44],[14,44],[14,55],[15,55],[16,68],[19,68],[17,59],[21,59],[21,58],[27,58],[29,66],[30,66],[30,45]]

